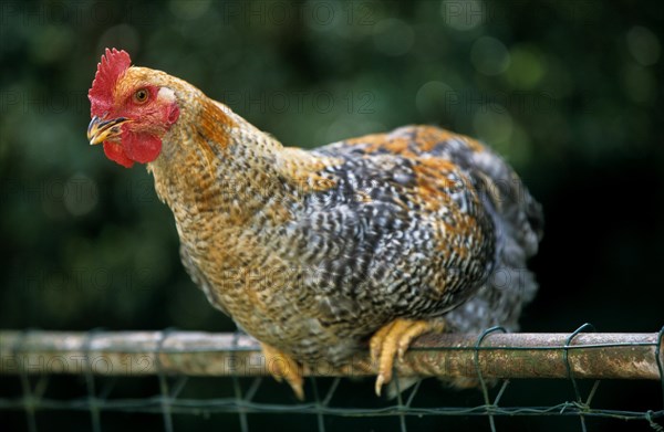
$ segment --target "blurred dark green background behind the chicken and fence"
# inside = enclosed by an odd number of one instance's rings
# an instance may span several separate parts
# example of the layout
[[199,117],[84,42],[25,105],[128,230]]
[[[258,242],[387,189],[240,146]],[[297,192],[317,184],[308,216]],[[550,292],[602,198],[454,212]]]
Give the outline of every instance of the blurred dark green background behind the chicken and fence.
[[[567,333],[589,322],[601,331],[657,331],[664,324],[663,20],[664,3],[655,0],[3,1],[0,328],[234,329],[183,271],[172,215],[145,169],[124,169],[86,143],[87,88],[103,50],[115,46],[134,64],[227,103],[286,145],[315,147],[414,123],[485,140],[544,208],[544,241],[532,261],[541,289],[523,330]],[[75,380],[68,379],[58,386],[71,387]],[[20,394],[15,382],[2,380],[4,396]],[[190,397],[230,391],[229,380],[194,381],[191,389],[205,393]],[[371,387],[343,382],[334,400],[383,403],[367,402]],[[81,389],[76,394],[85,394]],[[138,390],[129,396],[156,392],[152,381]],[[271,382],[262,392],[291,398]],[[547,405],[573,392],[569,382],[525,382],[506,398]],[[600,386],[595,403],[661,410],[661,398],[654,382],[611,382]],[[481,403],[476,392],[442,390],[435,381],[424,386],[422,400]],[[3,417],[24,428],[22,413]],[[84,413],[39,419],[43,430],[56,422],[87,429]],[[160,429],[159,415],[103,419],[107,430],[136,419]],[[279,429],[315,426],[310,417],[250,417],[255,428],[276,421]],[[533,430],[579,426],[577,419],[529,421]],[[398,425],[395,418],[326,422],[329,430]],[[179,424],[238,428],[237,415],[177,417]],[[487,423],[408,420],[409,430],[452,424]],[[500,419],[498,426],[529,428],[522,419]]]

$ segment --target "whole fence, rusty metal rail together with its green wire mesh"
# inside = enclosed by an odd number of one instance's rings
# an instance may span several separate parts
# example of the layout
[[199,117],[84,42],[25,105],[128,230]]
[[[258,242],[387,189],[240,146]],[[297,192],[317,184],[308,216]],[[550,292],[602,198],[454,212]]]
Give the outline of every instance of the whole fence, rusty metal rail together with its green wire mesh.
[[[324,430],[324,418],[339,417],[398,417],[401,430],[411,415],[486,415],[491,430],[495,417],[501,415],[560,415],[578,417],[581,430],[585,418],[642,420],[663,432],[664,421],[664,328],[652,334],[584,333],[584,325],[571,334],[506,334],[500,328],[480,335],[427,335],[417,339],[403,362],[396,362],[398,376],[438,378],[469,378],[479,383],[484,404],[477,407],[417,407],[414,403],[418,386],[381,407],[335,407],[331,403],[343,377],[374,373],[366,352],[357,354],[349,367],[333,368],[322,361],[309,365],[302,372],[312,380],[315,390],[302,403],[262,403],[253,396],[261,378],[274,369],[278,358],[266,359],[258,344],[239,334],[207,334],[190,331],[87,331],[62,333],[25,330],[0,331],[0,375],[21,378],[22,394],[3,398],[0,393],[0,413],[3,410],[23,410],[30,430],[37,430],[38,410],[90,411],[93,430],[101,431],[100,412],[162,413],[165,430],[173,430],[175,414],[238,413],[242,430],[251,413],[289,412],[317,415],[319,430]],[[70,400],[40,396],[39,382],[31,377],[54,375],[83,376],[87,397]],[[96,376],[157,376],[159,393],[143,399],[107,399],[95,390]],[[248,389],[240,389],[237,379],[235,397],[191,399],[179,397],[187,377],[256,377]],[[175,382],[173,377],[176,378]],[[315,377],[339,377],[325,394],[317,390]],[[548,407],[502,407],[500,399],[509,387],[509,379],[552,378],[571,382],[575,400]],[[490,396],[486,382],[505,380],[497,393]],[[612,410],[591,407],[598,384],[582,396],[578,379],[657,380],[662,400],[653,401],[644,411]],[[655,386],[657,386],[655,383]],[[243,419],[243,420],[242,420]]]

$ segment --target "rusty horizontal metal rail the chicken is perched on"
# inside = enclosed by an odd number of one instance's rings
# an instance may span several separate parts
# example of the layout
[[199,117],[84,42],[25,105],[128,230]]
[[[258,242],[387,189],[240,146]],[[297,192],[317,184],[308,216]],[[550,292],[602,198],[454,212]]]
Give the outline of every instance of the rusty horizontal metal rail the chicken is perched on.
[[[415,341],[400,376],[444,378],[575,378],[658,380],[658,334],[427,335]],[[657,357],[658,356],[658,357]],[[193,331],[0,331],[0,373],[266,376],[278,358],[255,339]],[[310,365],[305,376],[374,373],[366,352],[350,367]]]

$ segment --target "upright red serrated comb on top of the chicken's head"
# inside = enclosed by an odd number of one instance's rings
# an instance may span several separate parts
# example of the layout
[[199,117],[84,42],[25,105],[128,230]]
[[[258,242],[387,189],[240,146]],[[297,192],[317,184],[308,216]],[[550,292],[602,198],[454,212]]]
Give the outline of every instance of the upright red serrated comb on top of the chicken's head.
[[92,88],[87,92],[87,98],[92,104],[90,112],[93,116],[101,116],[111,109],[113,87],[131,64],[132,59],[129,59],[126,51],[106,49],[106,52],[102,55],[102,61],[97,64]]

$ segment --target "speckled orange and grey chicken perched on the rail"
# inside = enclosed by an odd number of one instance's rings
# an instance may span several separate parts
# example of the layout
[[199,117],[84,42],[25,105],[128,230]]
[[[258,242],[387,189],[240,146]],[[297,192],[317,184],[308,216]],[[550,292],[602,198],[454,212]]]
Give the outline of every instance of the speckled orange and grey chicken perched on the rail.
[[89,98],[90,144],[147,165],[193,281],[278,359],[271,372],[299,398],[301,365],[341,367],[367,348],[380,394],[414,338],[516,329],[537,289],[526,261],[540,207],[474,139],[406,126],[284,147],[115,49]]

